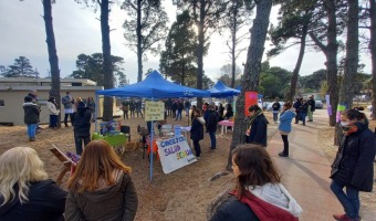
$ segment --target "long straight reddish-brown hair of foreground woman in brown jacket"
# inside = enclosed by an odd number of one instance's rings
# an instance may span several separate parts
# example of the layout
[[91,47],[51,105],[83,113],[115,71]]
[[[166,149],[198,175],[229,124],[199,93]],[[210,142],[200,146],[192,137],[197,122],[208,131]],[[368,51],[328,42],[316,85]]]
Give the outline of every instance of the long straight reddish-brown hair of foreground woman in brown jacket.
[[[70,190],[79,192],[93,192],[98,189],[100,179],[104,179],[107,186],[114,185],[114,170],[129,173],[130,167],[125,166],[119,157],[105,140],[98,139],[88,143],[80,159],[76,170],[67,182]],[[77,188],[80,183],[80,188]]]

